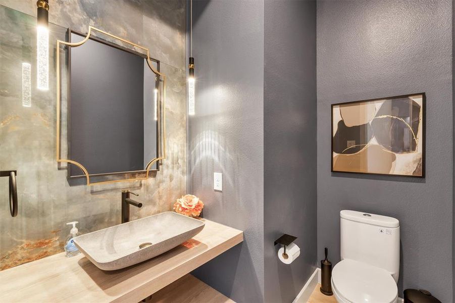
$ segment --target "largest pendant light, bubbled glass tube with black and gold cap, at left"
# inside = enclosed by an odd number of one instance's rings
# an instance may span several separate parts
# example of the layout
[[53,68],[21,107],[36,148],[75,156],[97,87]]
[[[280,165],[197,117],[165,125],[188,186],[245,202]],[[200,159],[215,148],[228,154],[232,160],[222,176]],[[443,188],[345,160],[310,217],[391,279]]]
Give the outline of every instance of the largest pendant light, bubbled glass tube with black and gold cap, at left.
[[36,80],[41,90],[49,89],[49,0],[38,0],[36,26]]

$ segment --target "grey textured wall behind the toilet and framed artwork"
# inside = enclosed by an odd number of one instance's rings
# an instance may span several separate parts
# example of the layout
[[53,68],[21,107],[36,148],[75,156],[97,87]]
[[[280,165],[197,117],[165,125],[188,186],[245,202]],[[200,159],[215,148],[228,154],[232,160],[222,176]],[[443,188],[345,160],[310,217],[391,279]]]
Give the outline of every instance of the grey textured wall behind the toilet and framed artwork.
[[[318,251],[339,261],[339,211],[400,221],[399,295],[452,300],[451,1],[320,1]],[[330,173],[330,104],[426,92],[425,179]]]

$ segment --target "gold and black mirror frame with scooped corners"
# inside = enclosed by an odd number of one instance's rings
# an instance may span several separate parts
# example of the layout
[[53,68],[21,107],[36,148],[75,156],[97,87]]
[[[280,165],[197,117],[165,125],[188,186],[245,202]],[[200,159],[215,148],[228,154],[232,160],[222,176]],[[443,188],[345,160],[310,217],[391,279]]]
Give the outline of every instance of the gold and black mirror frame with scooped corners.
[[[126,39],[120,38],[118,36],[115,36],[113,34],[105,32],[103,30],[97,29],[95,27],[89,26],[88,27],[88,32],[87,32],[85,37],[83,36],[83,34],[77,33],[83,38],[82,40],[77,41],[77,42],[72,42],[71,41],[72,32],[73,31],[68,30],[68,40],[69,41],[57,40],[57,48],[56,48],[57,49],[57,53],[56,53],[56,69],[57,69],[57,71],[56,71],[56,79],[57,79],[56,160],[57,160],[57,162],[58,163],[68,163],[69,164],[68,167],[67,167],[68,170],[69,170],[69,167],[71,165],[74,165],[77,168],[79,168],[82,171],[83,174],[82,175],[79,174],[79,175],[72,176],[71,173],[69,173],[69,178],[72,178],[72,177],[85,177],[86,178],[86,185],[88,185],[88,186],[97,185],[97,184],[113,183],[113,182],[121,182],[121,181],[136,181],[136,180],[145,180],[145,179],[147,179],[149,177],[150,171],[154,170],[153,166],[155,165],[156,168],[157,168],[156,170],[158,170],[162,160],[166,159],[166,76],[159,71],[159,62],[157,60],[154,60],[154,59],[150,58],[150,54],[149,54],[148,48],[146,48],[144,46],[141,46],[141,45],[138,45],[136,43],[133,43],[131,41],[128,41]],[[157,124],[156,124],[157,142],[156,142],[156,146],[154,145],[154,148],[156,149],[156,154],[154,155],[153,159],[148,160],[146,157],[147,157],[147,155],[151,155],[151,154],[150,153],[145,153],[145,152],[143,153],[143,159],[140,159],[140,161],[143,161],[143,169],[139,169],[139,170],[137,170],[137,169],[132,169],[132,170],[127,169],[125,171],[118,171],[118,170],[114,169],[114,171],[107,172],[107,173],[99,173],[97,171],[94,172],[94,173],[93,172],[90,173],[90,165],[88,165],[88,167],[87,167],[87,163],[84,163],[81,160],[74,159],[73,157],[70,157],[69,156],[70,153],[68,153],[67,157],[63,157],[62,156],[62,145],[64,145],[64,144],[62,144],[62,142],[64,142],[64,141],[62,141],[62,133],[63,133],[62,125],[67,124],[67,123],[63,123],[61,121],[61,119],[62,119],[62,86],[64,86],[64,85],[62,85],[62,83],[61,83],[63,77],[61,77],[62,66],[61,66],[60,52],[62,51],[63,47],[67,47],[68,48],[68,53],[70,53],[71,49],[73,47],[81,46],[84,43],[86,43],[87,41],[89,41],[89,39],[90,40],[97,40],[98,42],[105,43],[105,42],[99,40],[100,38],[98,37],[98,35],[96,35],[96,36],[93,35],[94,32],[98,32],[99,34],[106,35],[110,40],[120,41],[120,43],[124,43],[127,46],[129,46],[129,47],[128,47],[128,49],[126,49],[125,47],[120,46],[120,45],[118,45],[118,46],[112,45],[112,43],[110,43],[111,44],[110,46],[119,48],[119,49],[121,49],[123,51],[127,51],[127,52],[129,51],[129,48],[138,49],[140,54],[142,54],[141,57],[143,58],[143,60],[145,62],[143,64],[144,73],[145,73],[145,70],[149,69],[149,71],[151,71],[155,75],[154,76],[155,77],[154,81],[156,83],[156,84],[154,84],[155,85],[154,86],[155,87],[154,88],[154,101],[155,101],[154,111],[155,112],[154,113],[150,112],[149,115],[151,117],[155,116],[154,120],[157,121]],[[89,43],[87,43],[87,44],[89,44]],[[109,45],[109,43],[107,43],[107,42],[105,44]],[[115,43],[115,44],[117,44],[117,43]],[[131,52],[135,52],[135,51],[131,50]],[[135,52],[135,53],[139,54],[139,52]],[[158,65],[157,65],[157,62],[158,62]],[[109,65],[111,66],[112,64],[109,64]],[[70,66],[70,68],[71,68],[71,66]],[[109,72],[109,71],[107,71],[107,72]],[[145,77],[145,76],[143,76],[143,77]],[[87,80],[87,79],[84,79],[84,80]],[[68,85],[66,85],[66,86],[70,86],[70,83],[71,82],[68,81]],[[110,84],[110,83],[108,83],[108,84]],[[145,84],[144,84],[144,86],[145,86]],[[77,86],[77,87],[80,87],[80,85]],[[116,87],[118,87],[118,86],[116,86]],[[120,87],[119,89],[122,89],[122,88],[123,87]],[[145,91],[145,89],[144,89],[144,91]],[[69,98],[69,95],[68,95],[68,98]],[[145,100],[145,92],[143,92],[143,98]],[[126,98],[126,99],[124,98],[122,100],[126,100],[127,104],[124,104],[124,106],[126,106],[126,107],[130,106],[130,104],[128,103],[129,102],[128,98]],[[96,98],[89,99],[89,103],[90,102],[95,103],[96,101],[97,101]],[[146,107],[143,106],[142,110],[143,110],[143,117],[144,117],[144,119],[146,119],[148,117],[148,112],[146,111]],[[131,119],[129,119],[129,121],[131,121]],[[116,121],[113,121],[112,123],[117,123],[117,122],[118,121],[116,120]],[[97,121],[95,121],[94,124],[92,123],[92,126],[93,125],[96,126],[96,123],[97,123]],[[142,121],[142,125],[144,123],[145,122]],[[83,121],[79,125],[81,126],[81,128],[86,126]],[[119,129],[123,129],[123,126],[121,124],[118,125],[118,126],[120,127]],[[133,127],[137,128],[137,125],[136,126],[133,125]],[[69,128],[70,128],[70,125],[68,123],[68,130],[69,130]],[[130,125],[130,128],[131,128],[131,125]],[[142,132],[143,133],[146,132],[146,129],[144,127],[142,129]],[[82,136],[83,135],[84,134],[82,133]],[[116,134],[114,134],[114,136],[115,135]],[[79,137],[81,138],[80,131],[79,131]],[[144,139],[144,141],[145,141],[145,139]],[[128,144],[128,142],[120,142],[119,144],[117,146],[121,146],[121,144]],[[143,142],[142,144],[146,144],[146,143]],[[67,142],[67,145],[70,145],[69,140]],[[96,149],[91,150],[91,154],[92,155],[96,154],[95,151],[96,151]],[[116,150],[116,152],[117,152],[117,154],[121,154],[118,150]],[[104,158],[105,156],[106,155],[100,155],[101,158]],[[109,157],[106,157],[106,158],[109,158]],[[78,160],[78,161],[76,161],[76,160]],[[95,162],[97,162],[97,161],[95,161]],[[93,166],[91,166],[91,167],[93,167]],[[109,180],[102,180],[102,181],[96,181],[96,182],[92,182],[91,178],[90,178],[90,177],[93,177],[93,176],[96,176],[96,177],[111,177],[112,175],[116,175],[116,174],[133,174],[133,176],[131,178],[109,179]]]

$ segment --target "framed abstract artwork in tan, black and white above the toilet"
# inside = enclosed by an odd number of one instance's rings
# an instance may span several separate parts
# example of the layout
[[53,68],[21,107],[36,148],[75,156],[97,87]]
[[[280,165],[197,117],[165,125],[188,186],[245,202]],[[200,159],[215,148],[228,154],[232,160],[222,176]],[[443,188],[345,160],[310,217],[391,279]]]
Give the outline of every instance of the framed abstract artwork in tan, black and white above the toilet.
[[332,172],[425,177],[425,93],[332,105]]

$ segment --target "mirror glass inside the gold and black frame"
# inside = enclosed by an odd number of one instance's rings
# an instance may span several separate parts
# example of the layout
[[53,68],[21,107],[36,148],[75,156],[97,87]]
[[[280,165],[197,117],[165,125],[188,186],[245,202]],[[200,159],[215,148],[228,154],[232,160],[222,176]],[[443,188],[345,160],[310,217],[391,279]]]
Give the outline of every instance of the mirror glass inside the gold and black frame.
[[[86,36],[68,34],[70,42]],[[68,159],[90,176],[144,171],[160,142],[159,79],[146,55],[90,36],[69,47],[68,58]],[[70,178],[82,176],[69,165]]]

